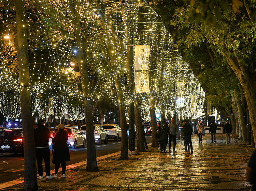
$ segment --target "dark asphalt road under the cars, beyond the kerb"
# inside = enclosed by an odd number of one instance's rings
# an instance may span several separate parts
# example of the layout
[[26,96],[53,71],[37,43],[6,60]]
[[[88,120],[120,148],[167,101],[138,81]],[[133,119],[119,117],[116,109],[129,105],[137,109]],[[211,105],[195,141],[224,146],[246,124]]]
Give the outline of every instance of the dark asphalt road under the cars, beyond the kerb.
[[[146,136],[147,143],[151,143],[151,136]],[[137,140],[136,140],[137,141]],[[128,141],[129,142],[129,141]],[[137,142],[136,142],[137,144]],[[104,156],[115,153],[121,150],[121,141],[115,142],[110,139],[108,144],[96,145],[96,156]],[[77,147],[77,149],[69,149],[71,161],[67,162],[67,166],[73,163],[86,160],[86,148]],[[52,150],[51,150],[51,170],[54,169],[52,164]],[[45,172],[44,162],[43,171]],[[7,181],[15,180],[24,177],[24,158],[22,154],[13,155],[12,153],[0,154],[0,184]],[[44,177],[45,178],[45,177]]]

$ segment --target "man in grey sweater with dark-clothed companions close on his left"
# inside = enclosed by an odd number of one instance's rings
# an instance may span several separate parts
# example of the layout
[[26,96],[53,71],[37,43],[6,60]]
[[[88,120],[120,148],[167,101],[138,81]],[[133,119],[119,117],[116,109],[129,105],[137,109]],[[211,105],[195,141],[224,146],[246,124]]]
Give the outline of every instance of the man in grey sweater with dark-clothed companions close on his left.
[[168,153],[166,151],[166,146],[169,137],[169,152],[171,152],[171,143],[173,140],[173,153],[176,153],[176,138],[178,137],[178,126],[174,123],[174,118],[171,120],[172,122],[167,125],[166,119],[163,118],[162,124],[158,123],[157,131],[158,131],[158,140],[160,144],[161,153]]

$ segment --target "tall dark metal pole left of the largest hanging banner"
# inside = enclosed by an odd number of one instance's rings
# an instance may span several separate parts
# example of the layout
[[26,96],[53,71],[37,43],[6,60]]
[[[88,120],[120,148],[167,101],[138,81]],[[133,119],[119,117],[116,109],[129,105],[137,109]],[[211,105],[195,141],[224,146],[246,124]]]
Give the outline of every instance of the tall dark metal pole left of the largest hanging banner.
[[[130,3],[130,1],[129,1]],[[132,4],[130,3],[130,10],[132,10]],[[130,96],[133,97],[134,91],[134,67],[133,67],[133,26],[132,26],[132,15],[130,17],[130,33],[129,33],[129,77],[130,77]],[[129,106],[129,151],[135,151],[135,132],[134,132],[134,101]]]

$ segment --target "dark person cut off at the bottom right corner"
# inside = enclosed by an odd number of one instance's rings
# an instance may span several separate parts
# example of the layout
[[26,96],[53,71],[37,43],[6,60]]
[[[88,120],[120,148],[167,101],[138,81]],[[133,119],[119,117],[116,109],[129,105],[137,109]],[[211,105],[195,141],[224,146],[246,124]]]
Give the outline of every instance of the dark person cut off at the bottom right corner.
[[252,153],[246,167],[246,180],[252,184],[252,191],[256,191],[256,150]]

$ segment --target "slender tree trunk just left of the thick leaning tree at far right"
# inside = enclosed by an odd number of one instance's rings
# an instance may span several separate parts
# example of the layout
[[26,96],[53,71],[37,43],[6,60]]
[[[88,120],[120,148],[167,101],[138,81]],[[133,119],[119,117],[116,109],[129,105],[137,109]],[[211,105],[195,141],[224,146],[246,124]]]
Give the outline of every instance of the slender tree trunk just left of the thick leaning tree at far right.
[[242,133],[243,141],[247,142],[247,130],[246,130],[246,125],[244,121],[244,116],[245,116],[244,109],[241,103],[241,97],[239,96],[239,93],[236,89],[234,90],[234,97],[237,103],[238,117],[241,125],[241,133]]

